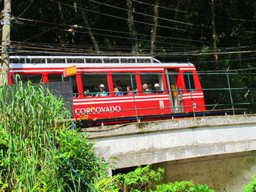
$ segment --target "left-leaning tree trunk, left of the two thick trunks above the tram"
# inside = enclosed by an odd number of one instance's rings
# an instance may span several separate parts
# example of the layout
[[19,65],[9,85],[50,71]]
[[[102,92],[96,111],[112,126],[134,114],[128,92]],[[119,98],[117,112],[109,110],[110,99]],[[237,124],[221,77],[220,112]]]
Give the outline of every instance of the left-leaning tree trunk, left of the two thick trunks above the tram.
[[138,52],[138,39],[135,31],[135,24],[133,22],[133,15],[132,15],[132,0],[127,0],[127,15],[128,15],[128,26],[129,26],[129,32],[132,33],[132,52],[137,53]]

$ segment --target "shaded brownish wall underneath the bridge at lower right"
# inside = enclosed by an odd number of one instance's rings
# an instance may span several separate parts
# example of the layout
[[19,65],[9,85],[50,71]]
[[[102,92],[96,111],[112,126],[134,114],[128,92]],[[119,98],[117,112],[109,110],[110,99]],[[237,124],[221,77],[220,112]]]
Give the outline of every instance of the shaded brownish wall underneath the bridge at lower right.
[[164,182],[193,180],[218,192],[243,191],[256,173],[256,151],[219,154],[153,165],[165,169]]

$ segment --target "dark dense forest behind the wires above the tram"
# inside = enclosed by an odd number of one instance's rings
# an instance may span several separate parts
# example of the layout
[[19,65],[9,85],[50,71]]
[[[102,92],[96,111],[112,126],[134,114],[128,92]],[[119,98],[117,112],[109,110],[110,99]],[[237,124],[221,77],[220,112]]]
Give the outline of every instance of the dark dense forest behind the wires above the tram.
[[255,68],[253,0],[30,0],[12,4],[10,50],[15,54],[134,52],[162,61],[190,60],[199,71]]

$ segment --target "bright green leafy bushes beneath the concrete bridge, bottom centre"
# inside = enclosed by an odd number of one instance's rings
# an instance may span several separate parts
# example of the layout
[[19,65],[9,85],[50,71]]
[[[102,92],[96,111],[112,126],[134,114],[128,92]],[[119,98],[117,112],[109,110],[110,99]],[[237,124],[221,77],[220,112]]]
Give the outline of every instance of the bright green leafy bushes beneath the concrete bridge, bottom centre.
[[[169,182],[159,184],[163,179],[163,168],[152,170],[150,165],[138,166],[135,171],[128,174],[118,174],[108,179],[108,187],[112,191],[149,191],[149,192],[214,192],[207,185],[193,185],[192,181]],[[104,188],[106,189],[106,188]],[[109,191],[110,188],[107,188]],[[105,191],[107,191],[105,190]]]

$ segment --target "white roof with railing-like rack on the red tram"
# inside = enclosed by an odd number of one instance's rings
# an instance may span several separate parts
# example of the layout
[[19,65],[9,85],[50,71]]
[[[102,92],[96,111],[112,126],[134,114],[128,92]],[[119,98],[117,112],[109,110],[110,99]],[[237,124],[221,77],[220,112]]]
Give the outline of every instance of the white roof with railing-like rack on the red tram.
[[[10,63],[13,65],[44,65],[48,68],[53,65],[68,67],[193,67],[192,63],[161,63],[154,57],[110,57],[110,56],[10,56]],[[46,66],[48,65],[48,66]]]

